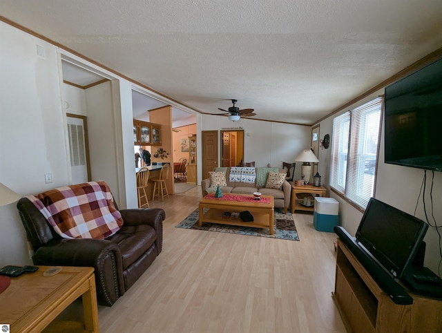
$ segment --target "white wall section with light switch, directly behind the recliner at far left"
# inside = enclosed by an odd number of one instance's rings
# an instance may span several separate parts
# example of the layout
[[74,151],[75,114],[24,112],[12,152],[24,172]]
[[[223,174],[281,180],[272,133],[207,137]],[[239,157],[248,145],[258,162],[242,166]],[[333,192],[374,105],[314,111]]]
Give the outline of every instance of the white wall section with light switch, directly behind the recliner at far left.
[[[26,196],[68,182],[57,50],[3,22],[0,35],[0,182]],[[30,263],[15,204],[0,207],[0,216],[0,265]]]

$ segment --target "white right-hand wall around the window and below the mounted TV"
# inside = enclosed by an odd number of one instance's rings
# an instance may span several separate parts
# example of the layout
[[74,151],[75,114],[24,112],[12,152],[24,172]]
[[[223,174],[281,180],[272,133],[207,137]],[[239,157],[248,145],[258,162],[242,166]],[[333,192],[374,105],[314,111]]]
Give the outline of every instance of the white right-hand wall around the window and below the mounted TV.
[[[366,97],[365,99],[357,102],[356,104],[345,108],[336,115],[328,117],[320,122],[320,138],[322,139],[325,134],[330,134],[331,141],[333,140],[333,118],[337,115],[360,106],[369,100],[376,98],[378,95],[382,95],[383,90]],[[421,183],[423,181],[424,171],[421,169],[414,169],[409,167],[399,167],[392,164],[384,163],[384,131],[381,132],[381,142],[379,149],[378,169],[376,174],[376,188],[375,198],[392,205],[401,211],[414,215],[414,207],[418,202],[419,191]],[[416,134],[419,135],[419,134]],[[347,203],[343,198],[336,195],[334,192],[329,191],[329,170],[330,170],[330,158],[331,148],[320,149],[319,153],[319,173],[322,175],[323,184],[328,189],[328,193],[332,198],[335,198],[339,202],[339,224],[345,227],[345,229],[354,236],[358,229],[359,222],[363,216],[363,213],[355,209],[351,204]],[[427,171],[427,178],[431,178],[432,173]],[[427,179],[427,196],[425,201],[427,202],[427,213],[430,217],[430,180]],[[434,218],[438,222],[438,225],[442,225],[442,173],[434,172],[433,183],[433,203],[434,203]],[[423,211],[422,199],[419,200],[419,207],[416,211],[416,217],[421,220],[426,220],[425,213]],[[434,225],[434,222],[432,222]],[[438,265],[441,257],[439,256],[439,236],[436,229],[430,227],[424,238],[427,243],[427,249],[425,253],[425,266],[430,267],[433,272],[438,273]]]

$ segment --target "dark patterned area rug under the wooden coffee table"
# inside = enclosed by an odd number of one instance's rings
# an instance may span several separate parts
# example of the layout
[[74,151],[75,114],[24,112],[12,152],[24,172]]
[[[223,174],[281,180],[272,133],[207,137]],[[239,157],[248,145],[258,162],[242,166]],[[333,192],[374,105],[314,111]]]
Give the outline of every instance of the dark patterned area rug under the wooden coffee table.
[[195,229],[204,231],[227,232],[229,234],[260,236],[268,238],[278,238],[286,240],[299,240],[296,232],[295,222],[290,212],[287,214],[275,211],[275,234],[269,235],[269,229],[238,227],[236,225],[217,225],[215,223],[202,223],[202,227],[198,226],[198,209],[193,211],[182,222],[178,223],[175,228]]

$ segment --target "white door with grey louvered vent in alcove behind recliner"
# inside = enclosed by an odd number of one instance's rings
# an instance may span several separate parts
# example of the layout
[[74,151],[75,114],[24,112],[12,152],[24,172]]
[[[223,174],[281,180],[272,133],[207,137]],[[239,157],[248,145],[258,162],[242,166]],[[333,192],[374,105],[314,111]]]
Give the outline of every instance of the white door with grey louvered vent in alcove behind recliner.
[[73,184],[90,181],[89,149],[87,140],[86,117],[66,115],[68,122],[70,169]]

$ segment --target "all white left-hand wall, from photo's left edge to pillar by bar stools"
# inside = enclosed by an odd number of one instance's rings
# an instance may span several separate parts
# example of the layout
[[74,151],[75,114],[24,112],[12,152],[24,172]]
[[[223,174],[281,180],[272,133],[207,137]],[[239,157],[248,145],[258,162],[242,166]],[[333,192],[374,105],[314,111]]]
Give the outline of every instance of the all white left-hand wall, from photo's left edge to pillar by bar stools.
[[[88,117],[93,178],[116,189],[120,208],[136,207],[131,84],[119,78],[117,88],[111,82],[85,93],[67,88],[58,48],[1,21],[0,35],[0,182],[21,196],[70,184],[66,99],[68,112]],[[125,177],[128,166],[133,178]],[[0,216],[0,266],[32,263],[15,204],[0,207]]]

